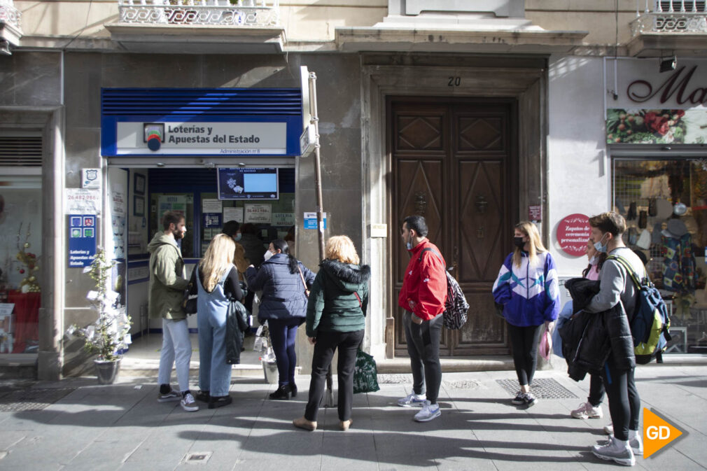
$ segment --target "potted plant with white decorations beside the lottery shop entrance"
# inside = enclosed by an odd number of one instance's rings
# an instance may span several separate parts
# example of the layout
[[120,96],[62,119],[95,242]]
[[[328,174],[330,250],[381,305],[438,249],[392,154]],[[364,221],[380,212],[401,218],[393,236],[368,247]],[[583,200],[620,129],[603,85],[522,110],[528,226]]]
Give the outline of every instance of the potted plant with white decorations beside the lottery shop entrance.
[[98,355],[93,363],[98,374],[98,383],[112,384],[120,369],[122,351],[130,343],[130,316],[125,306],[117,305],[117,293],[108,289],[110,270],[114,262],[108,262],[105,250],[98,249],[90,266],[83,269],[95,281],[95,290],[88,291],[88,298],[98,313],[98,320],[86,327],[74,324],[66,330],[69,337],[83,339],[83,349],[90,355]]

